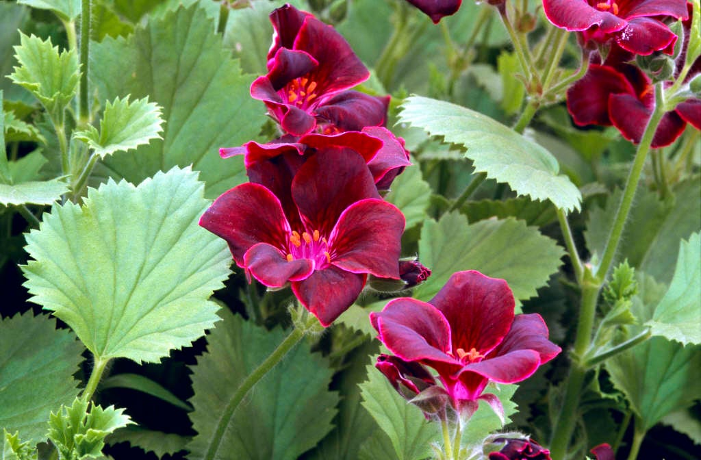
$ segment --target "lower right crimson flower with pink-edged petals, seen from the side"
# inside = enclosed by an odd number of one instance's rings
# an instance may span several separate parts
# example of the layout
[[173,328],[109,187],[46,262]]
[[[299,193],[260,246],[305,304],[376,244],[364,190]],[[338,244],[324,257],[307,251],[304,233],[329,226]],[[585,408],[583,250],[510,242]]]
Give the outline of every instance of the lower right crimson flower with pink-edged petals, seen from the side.
[[428,303],[394,299],[370,320],[397,358],[437,371],[458,412],[469,416],[483,399],[503,414],[486,385],[522,381],[561,351],[540,315],[514,316],[514,307],[505,280],[461,271]]

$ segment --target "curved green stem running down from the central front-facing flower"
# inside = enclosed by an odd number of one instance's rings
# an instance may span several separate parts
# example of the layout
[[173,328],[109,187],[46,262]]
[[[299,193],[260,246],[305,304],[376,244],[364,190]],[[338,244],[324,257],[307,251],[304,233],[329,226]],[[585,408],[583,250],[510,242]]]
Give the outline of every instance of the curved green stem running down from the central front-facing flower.
[[233,413],[236,412],[236,408],[241,403],[244,396],[255,384],[257,384],[260,379],[264,377],[265,374],[270,372],[270,370],[273,369],[276,364],[280,363],[280,360],[285,357],[287,352],[289,352],[292,347],[294,347],[297,342],[301,340],[302,337],[304,337],[304,331],[294,328],[294,330],[290,332],[290,335],[288,335],[287,338],[283,340],[280,345],[278,345],[278,348],[276,348],[275,351],[273,351],[273,353],[271,353],[271,355],[263,361],[263,363],[256,367],[256,369],[251,372],[243,382],[241,382],[240,386],[236,389],[236,392],[233,393],[231,400],[229,400],[229,404],[227,404],[224,408],[222,417],[220,417],[217,421],[217,429],[214,437],[212,438],[212,442],[210,442],[210,446],[207,449],[207,454],[205,454],[205,460],[213,460],[217,458],[217,452],[219,451],[219,446],[222,443],[222,438],[224,438],[224,432],[226,432],[226,428],[229,426],[229,421],[231,420],[231,417],[233,417]]

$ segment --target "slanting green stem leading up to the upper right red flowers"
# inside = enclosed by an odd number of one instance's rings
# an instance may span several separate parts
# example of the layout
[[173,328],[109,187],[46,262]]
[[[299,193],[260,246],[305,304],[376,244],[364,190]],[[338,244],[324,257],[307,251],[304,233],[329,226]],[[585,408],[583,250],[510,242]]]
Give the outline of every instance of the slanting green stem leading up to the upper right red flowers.
[[648,151],[653,142],[653,137],[655,136],[655,131],[660,124],[662,116],[665,114],[665,96],[664,90],[662,90],[662,83],[658,83],[655,86],[655,109],[648,125],[645,128],[643,137],[640,140],[638,150],[635,152],[635,158],[633,160],[632,168],[630,169],[630,174],[628,175],[628,180],[625,183],[625,189],[623,191],[623,197],[621,198],[620,205],[618,206],[618,211],[616,212],[615,219],[613,221],[613,227],[611,228],[611,234],[608,236],[608,242],[606,243],[606,249],[604,250],[604,256],[601,257],[601,264],[597,270],[597,278],[599,280],[604,280],[608,269],[611,268],[613,263],[613,257],[618,249],[618,243],[620,242],[620,236],[623,233],[623,228],[625,227],[625,221],[628,218],[628,213],[633,204],[633,198],[635,196],[635,191],[638,188],[638,182],[640,180],[640,175],[643,172],[643,167],[645,165],[645,160],[648,156]]

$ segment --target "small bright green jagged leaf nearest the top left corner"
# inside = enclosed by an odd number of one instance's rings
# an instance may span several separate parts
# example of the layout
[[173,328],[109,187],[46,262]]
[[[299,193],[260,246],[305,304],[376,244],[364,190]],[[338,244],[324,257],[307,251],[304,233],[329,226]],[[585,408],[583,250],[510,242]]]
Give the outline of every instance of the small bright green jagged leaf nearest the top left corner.
[[54,119],[73,99],[78,90],[80,72],[75,50],[58,52],[51,39],[42,41],[20,32],[20,46],[15,57],[20,63],[9,78],[29,90],[46,107]]

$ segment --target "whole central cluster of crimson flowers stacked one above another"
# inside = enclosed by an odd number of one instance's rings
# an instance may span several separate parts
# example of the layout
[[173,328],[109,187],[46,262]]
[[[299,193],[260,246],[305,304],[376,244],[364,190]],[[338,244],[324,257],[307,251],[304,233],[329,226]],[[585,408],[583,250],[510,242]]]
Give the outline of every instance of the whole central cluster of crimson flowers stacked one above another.
[[332,27],[288,5],[268,74],[251,85],[282,135],[220,150],[243,155],[250,182],[219,196],[200,225],[269,288],[292,292],[324,326],[348,308],[367,276],[400,279],[404,215],[384,201],[409,165],[404,141],[383,127],[388,97],[348,90],[369,72]]

